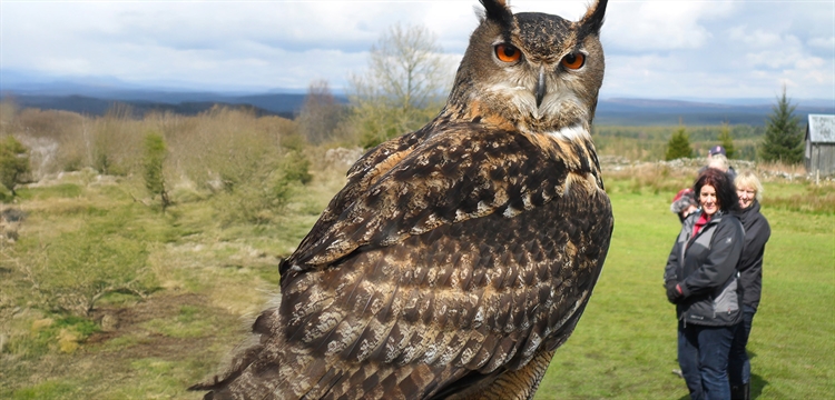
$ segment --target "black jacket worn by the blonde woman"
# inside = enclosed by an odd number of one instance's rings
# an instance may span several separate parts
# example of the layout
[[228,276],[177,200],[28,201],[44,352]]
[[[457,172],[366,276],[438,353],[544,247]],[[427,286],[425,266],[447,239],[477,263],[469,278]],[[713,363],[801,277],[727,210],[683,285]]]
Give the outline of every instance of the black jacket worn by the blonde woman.
[[759,307],[759,293],[763,289],[763,254],[765,243],[772,237],[772,228],[768,220],[759,213],[757,200],[739,211],[738,216],[745,227],[745,249],[737,266],[739,283],[743,286],[743,303],[756,309]]

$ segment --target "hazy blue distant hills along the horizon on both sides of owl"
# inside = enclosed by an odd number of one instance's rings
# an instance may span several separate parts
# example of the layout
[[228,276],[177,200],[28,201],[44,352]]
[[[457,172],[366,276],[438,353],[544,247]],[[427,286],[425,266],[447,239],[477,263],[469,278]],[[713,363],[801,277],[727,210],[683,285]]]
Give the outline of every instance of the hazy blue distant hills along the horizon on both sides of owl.
[[[174,89],[173,89],[174,88]],[[150,111],[196,114],[215,104],[245,108],[257,114],[294,118],[304,103],[298,90],[269,91],[195,91],[185,88],[149,87],[126,83],[116,79],[88,78],[72,80],[33,81],[18,72],[0,72],[0,99],[12,99],[22,108],[40,108],[102,116],[117,103],[129,106],[141,116]],[[337,100],[346,102],[337,93]],[[665,99],[601,99],[595,122],[598,124],[763,126],[775,99],[665,100]],[[833,100],[793,100],[795,114],[803,121],[809,113],[835,113]]]

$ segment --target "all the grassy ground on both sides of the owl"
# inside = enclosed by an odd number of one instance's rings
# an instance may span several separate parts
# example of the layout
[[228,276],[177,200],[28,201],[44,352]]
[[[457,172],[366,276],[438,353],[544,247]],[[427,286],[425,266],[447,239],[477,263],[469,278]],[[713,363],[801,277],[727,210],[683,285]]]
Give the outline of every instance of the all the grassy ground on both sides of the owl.
[[[141,187],[129,181],[21,190],[17,207],[27,219],[17,242],[1,248],[0,398],[200,398],[185,388],[245,338],[246,321],[277,290],[277,258],[292,251],[341,184],[317,176],[267,226],[223,224],[200,199],[161,214],[131,199]],[[686,398],[684,381],[671,373],[676,319],[661,288],[679,229],[668,209],[674,193],[627,180],[607,187],[616,217],[609,257],[537,399]],[[797,199],[833,190],[782,182],[766,192],[795,200],[766,202],[763,211],[773,233],[749,344],[753,397],[826,398],[835,392],[835,210],[804,210]],[[146,298],[115,292],[86,318],[36,301],[24,257],[49,253],[50,242],[77,232],[105,253],[106,243],[136,242],[141,259],[134,261],[151,282]]]

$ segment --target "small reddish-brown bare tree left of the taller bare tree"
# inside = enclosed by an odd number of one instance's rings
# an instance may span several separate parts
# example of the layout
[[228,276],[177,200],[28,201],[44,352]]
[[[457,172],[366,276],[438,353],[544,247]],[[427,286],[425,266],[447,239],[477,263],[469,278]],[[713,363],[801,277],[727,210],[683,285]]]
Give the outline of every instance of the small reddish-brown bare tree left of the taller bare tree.
[[311,82],[297,119],[302,134],[314,144],[327,141],[342,118],[342,109],[326,80]]

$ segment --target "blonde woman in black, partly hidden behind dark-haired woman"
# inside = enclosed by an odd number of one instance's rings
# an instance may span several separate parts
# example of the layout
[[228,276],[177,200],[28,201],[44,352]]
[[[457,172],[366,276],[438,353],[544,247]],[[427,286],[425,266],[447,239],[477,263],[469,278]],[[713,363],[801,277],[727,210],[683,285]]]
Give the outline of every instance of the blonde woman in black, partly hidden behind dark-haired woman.
[[763,198],[763,184],[752,171],[740,173],[734,180],[739,197],[739,220],[745,228],[745,249],[739,259],[739,283],[743,287],[743,324],[738,327],[730,346],[728,359],[728,378],[731,399],[750,398],[750,362],[745,350],[750,334],[754,314],[759,306],[759,293],[763,288],[763,254],[765,244],[772,236],[768,220],[759,213],[759,200]]

